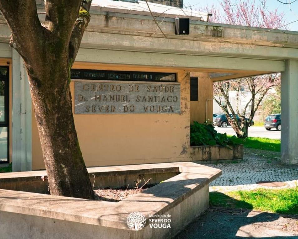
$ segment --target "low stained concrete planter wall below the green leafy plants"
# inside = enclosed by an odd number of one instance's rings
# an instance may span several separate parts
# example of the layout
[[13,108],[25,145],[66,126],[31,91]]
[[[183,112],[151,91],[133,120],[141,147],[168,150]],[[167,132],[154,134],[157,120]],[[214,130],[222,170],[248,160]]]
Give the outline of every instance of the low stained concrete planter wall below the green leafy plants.
[[200,163],[229,162],[243,159],[243,144],[229,146],[231,149],[219,145],[191,146],[190,157],[192,161]]

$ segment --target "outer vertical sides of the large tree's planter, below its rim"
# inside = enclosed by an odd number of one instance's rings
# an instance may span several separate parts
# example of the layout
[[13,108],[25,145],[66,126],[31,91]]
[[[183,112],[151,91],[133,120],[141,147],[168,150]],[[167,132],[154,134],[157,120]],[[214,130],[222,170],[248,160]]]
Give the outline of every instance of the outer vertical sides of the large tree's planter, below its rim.
[[[1,239],[82,239],[85,238],[86,235],[88,235],[88,238],[90,239],[169,239],[174,237],[175,234],[183,229],[183,227],[189,224],[195,217],[198,217],[209,207],[208,188],[209,186],[205,185],[199,191],[195,192],[192,196],[187,197],[175,207],[172,207],[168,211],[164,211],[165,215],[171,215],[171,228],[154,229],[146,226],[141,231],[136,232],[129,230],[128,228],[119,229],[101,225],[71,222],[65,219],[63,220],[63,218],[54,219],[50,217],[37,217],[22,213],[0,211]],[[99,202],[97,205],[101,208]],[[61,206],[64,207],[63,205]],[[113,206],[111,205],[111,207]],[[83,210],[85,208],[88,208],[86,202],[84,202]],[[141,213],[147,213],[146,207],[130,207],[127,209],[131,210],[129,212],[135,210]],[[107,212],[106,208],[104,211]],[[118,213],[117,211],[115,212]],[[88,212],[86,212],[86,214],[87,213]],[[12,228],[14,229],[12,230]]]

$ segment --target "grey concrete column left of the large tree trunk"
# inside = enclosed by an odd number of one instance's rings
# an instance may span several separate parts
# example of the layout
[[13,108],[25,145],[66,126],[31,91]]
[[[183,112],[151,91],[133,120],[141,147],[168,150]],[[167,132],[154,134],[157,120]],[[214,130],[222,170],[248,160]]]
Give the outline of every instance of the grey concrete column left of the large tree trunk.
[[31,96],[22,57],[12,50],[12,170],[32,170]]

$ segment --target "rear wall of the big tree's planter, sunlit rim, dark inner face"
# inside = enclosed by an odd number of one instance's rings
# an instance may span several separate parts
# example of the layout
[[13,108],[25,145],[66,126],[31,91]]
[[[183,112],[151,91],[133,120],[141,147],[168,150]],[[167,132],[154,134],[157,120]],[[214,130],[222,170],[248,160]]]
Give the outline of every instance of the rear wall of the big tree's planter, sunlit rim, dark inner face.
[[[179,167],[168,167],[167,164],[142,164],[121,167],[92,167],[87,168],[94,188],[119,188],[134,185],[137,179],[151,178],[148,185],[155,185],[179,174]],[[47,180],[41,180],[46,175],[45,170],[0,173],[0,188],[24,192],[46,193]]]

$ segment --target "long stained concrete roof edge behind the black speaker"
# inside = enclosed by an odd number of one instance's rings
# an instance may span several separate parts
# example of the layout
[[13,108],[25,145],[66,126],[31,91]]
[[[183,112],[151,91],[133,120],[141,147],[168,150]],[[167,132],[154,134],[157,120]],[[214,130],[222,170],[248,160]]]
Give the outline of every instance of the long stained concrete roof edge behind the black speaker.
[[[40,14],[39,17],[42,20],[44,15]],[[84,32],[81,47],[257,59],[298,59],[297,32],[268,32],[260,28],[191,21],[190,35],[177,36],[174,19],[161,17],[158,21],[163,21],[161,28],[167,37],[155,30],[155,22],[150,16],[96,12],[92,14],[91,22]],[[8,42],[9,38],[10,30],[0,17],[0,42]]]

